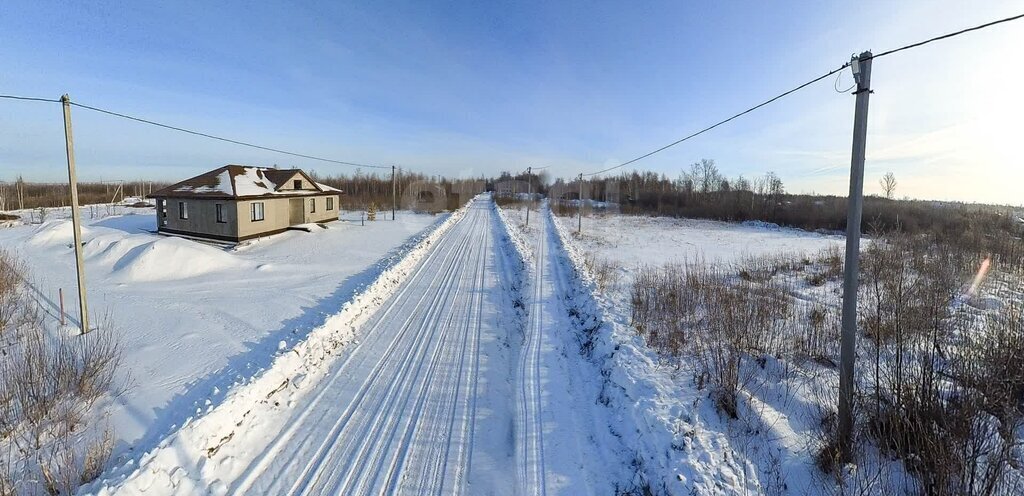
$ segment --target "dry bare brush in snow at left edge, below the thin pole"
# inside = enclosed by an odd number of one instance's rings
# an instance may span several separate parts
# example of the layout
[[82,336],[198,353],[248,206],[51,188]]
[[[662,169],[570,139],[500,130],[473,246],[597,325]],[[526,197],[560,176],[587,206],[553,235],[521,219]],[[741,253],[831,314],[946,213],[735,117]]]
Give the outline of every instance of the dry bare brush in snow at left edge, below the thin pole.
[[[71,494],[98,476],[113,452],[109,428],[95,427],[100,400],[123,390],[121,348],[109,325],[84,335],[48,331],[43,314],[18,295],[0,302],[13,315],[0,357],[0,495]],[[14,486],[16,484],[16,486]]]

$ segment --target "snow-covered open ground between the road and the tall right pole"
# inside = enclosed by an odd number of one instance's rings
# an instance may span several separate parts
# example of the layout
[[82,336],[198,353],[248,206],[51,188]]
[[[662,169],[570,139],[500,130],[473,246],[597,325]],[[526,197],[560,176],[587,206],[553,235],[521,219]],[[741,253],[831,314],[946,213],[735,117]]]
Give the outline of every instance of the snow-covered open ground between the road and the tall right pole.
[[[829,249],[842,253],[844,237],[755,222],[629,215],[584,217],[579,236],[575,217],[556,221],[585,279],[593,276],[586,274],[588,259],[614,266],[605,287],[591,280],[592,291],[608,327],[606,345],[620,349],[609,353],[618,356],[623,377],[617,382],[627,397],[647,406],[638,415],[642,420],[637,424],[647,429],[637,445],[647,448],[648,468],[663,483],[660,491],[829,494],[813,460],[813,391],[802,388],[806,384],[799,377],[783,381],[770,364],[744,396],[742,405],[753,413],[740,420],[725,418],[708,391],[694,384],[693,367],[666,363],[637,336],[630,323],[630,290],[645,266],[697,263],[735,272],[759,257],[814,258]],[[648,381],[650,388],[631,388],[638,379]]]

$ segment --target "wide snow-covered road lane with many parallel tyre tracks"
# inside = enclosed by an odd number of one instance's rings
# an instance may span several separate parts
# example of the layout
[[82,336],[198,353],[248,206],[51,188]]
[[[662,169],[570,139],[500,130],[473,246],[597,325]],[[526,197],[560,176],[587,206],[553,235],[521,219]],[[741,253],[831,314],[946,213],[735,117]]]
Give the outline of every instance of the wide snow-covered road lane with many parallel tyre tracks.
[[293,407],[234,493],[469,493],[507,477],[507,444],[477,436],[502,407],[481,410],[481,395],[507,386],[492,383],[501,364],[486,359],[508,333],[494,217],[486,202],[470,207]]

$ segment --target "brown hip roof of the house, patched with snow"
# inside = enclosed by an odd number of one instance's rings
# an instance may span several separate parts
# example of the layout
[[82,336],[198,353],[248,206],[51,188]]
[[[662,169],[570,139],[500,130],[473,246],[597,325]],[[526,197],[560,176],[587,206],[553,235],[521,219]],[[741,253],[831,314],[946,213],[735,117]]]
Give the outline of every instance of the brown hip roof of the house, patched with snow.
[[[282,190],[296,173],[301,174],[314,190]],[[225,165],[209,172],[171,184],[152,193],[154,198],[265,198],[298,197],[324,193],[341,193],[312,180],[301,169],[276,169],[247,165]]]

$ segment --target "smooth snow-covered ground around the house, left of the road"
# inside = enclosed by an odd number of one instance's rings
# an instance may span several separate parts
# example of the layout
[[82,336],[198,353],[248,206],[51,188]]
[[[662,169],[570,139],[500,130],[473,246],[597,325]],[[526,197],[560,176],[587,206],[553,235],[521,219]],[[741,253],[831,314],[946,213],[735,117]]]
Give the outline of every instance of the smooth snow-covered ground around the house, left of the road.
[[[38,211],[32,216],[39,220]],[[444,217],[399,212],[394,222],[362,226],[357,212],[341,216],[355,220],[224,248],[150,233],[153,209],[83,208],[91,325],[120,337],[131,380],[110,419],[116,460],[265,367],[282,343],[301,340]],[[50,209],[42,224],[0,229],[0,248],[25,262],[51,322],[63,290],[75,324],[67,217],[68,209]]]

